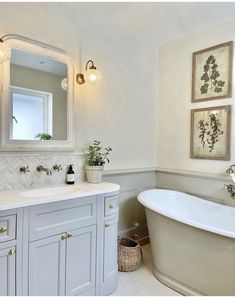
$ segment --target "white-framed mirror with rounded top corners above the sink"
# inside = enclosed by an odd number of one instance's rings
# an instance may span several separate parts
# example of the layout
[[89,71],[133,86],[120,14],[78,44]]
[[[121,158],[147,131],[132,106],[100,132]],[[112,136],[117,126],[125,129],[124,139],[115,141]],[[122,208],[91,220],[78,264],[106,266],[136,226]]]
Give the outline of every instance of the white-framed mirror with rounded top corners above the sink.
[[2,151],[73,150],[74,65],[63,51],[7,36],[1,65]]

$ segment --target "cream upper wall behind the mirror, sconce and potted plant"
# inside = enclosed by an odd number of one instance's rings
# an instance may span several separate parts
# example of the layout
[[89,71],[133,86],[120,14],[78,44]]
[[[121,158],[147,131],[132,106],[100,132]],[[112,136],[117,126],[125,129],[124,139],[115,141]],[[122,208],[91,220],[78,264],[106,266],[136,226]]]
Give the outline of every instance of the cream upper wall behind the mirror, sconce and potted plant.
[[66,10],[70,5],[75,3],[1,3],[0,35],[21,34],[62,48],[77,72],[93,59],[103,80],[95,88],[76,85],[77,149],[100,139],[113,148],[107,169],[155,166],[155,49],[84,12],[78,18]]

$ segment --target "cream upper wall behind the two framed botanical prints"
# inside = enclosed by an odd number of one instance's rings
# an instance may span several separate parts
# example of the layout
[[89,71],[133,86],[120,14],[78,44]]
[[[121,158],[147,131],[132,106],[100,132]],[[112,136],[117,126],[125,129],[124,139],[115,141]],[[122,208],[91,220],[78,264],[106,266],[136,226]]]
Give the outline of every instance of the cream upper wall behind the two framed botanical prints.
[[[191,103],[192,53],[230,40],[235,41],[234,21],[160,47],[157,114],[159,167],[225,173],[226,169],[235,163],[234,95],[230,99]],[[233,70],[233,88],[234,80]],[[190,159],[190,110],[229,104],[232,105],[231,160]]]

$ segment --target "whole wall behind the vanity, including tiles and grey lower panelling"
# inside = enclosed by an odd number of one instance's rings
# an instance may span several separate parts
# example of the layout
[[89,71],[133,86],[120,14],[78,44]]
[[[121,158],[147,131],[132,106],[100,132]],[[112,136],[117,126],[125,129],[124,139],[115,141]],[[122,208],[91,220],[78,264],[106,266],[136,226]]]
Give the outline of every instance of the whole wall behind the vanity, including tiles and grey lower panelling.
[[[153,167],[156,165],[156,50],[135,36],[120,32],[81,12],[80,17],[67,10],[71,3],[1,3],[0,35],[16,33],[66,50],[73,58],[77,72],[93,59],[103,75],[95,88],[76,85],[76,147],[84,150],[94,139],[111,146],[111,163],[106,169]],[[20,16],[20,17],[19,17]],[[43,157],[0,154],[0,189],[11,189],[12,177],[18,186],[37,187],[63,182],[65,171],[50,180],[34,171],[39,162],[80,164],[80,157],[54,153]],[[19,166],[32,164],[29,175],[20,176]],[[9,170],[9,164],[15,164]],[[83,168],[76,167],[77,180]],[[23,179],[23,183],[22,183]],[[32,182],[30,182],[32,180]],[[145,232],[144,209],[137,203],[139,191],[155,186],[155,173],[105,176],[104,180],[121,185],[119,230],[133,230],[140,223]],[[7,184],[9,182],[9,186]],[[2,183],[2,187],[1,187]],[[140,230],[137,230],[140,231]]]

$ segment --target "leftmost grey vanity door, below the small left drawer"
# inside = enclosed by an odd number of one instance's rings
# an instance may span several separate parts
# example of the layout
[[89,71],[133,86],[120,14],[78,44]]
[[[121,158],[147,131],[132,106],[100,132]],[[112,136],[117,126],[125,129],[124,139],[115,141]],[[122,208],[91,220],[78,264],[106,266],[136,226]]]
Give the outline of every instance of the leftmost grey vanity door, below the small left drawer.
[[15,247],[0,250],[0,295],[15,295]]

